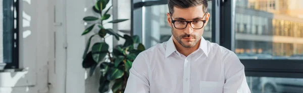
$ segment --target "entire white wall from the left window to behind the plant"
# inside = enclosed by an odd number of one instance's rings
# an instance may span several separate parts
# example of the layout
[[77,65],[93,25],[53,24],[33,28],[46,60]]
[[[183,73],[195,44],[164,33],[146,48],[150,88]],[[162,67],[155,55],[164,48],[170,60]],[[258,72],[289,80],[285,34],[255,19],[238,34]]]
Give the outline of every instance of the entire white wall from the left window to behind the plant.
[[[88,26],[84,26],[82,18],[86,15],[94,15],[91,10],[94,1],[20,0],[19,59],[20,68],[25,68],[25,70],[1,72],[0,92],[97,92],[99,74],[85,78],[85,72],[89,70],[86,71],[82,68],[82,54],[89,38],[89,35],[81,36],[83,30]],[[130,4],[130,0],[122,2]],[[116,14],[120,11],[124,12],[114,16],[114,19],[130,18],[130,5],[118,3],[120,2],[117,2],[116,6],[121,6],[113,7],[113,10],[119,10],[115,11]],[[107,8],[111,4],[112,0]],[[128,11],[129,15],[125,16]],[[112,10],[109,13],[113,14]],[[112,19],[113,16],[107,21]],[[130,25],[130,20],[115,25],[115,28],[130,29],[128,25]],[[104,26],[113,28],[112,23]],[[97,32],[97,30],[93,32]],[[93,34],[93,32],[89,34]],[[113,36],[106,38],[110,48],[113,47],[113,38]],[[97,41],[99,39],[94,38],[91,45]],[[99,71],[95,70],[95,73],[99,73]]]

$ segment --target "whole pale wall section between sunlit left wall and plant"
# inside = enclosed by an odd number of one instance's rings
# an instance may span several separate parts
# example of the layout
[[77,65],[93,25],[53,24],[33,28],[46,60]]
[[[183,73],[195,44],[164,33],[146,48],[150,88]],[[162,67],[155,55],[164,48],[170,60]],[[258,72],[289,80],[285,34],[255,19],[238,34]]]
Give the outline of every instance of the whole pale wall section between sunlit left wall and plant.
[[[85,36],[82,18],[86,0],[55,0],[54,11],[54,61],[49,63],[50,93],[84,93],[85,70],[82,54]],[[49,41],[52,42],[52,41]]]

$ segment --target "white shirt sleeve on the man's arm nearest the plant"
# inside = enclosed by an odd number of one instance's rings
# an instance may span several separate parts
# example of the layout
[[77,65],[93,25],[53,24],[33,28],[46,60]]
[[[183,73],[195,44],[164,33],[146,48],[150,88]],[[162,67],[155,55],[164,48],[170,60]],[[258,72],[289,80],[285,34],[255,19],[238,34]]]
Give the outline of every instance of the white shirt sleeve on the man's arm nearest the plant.
[[146,57],[139,53],[129,70],[125,93],[148,93],[148,66]]

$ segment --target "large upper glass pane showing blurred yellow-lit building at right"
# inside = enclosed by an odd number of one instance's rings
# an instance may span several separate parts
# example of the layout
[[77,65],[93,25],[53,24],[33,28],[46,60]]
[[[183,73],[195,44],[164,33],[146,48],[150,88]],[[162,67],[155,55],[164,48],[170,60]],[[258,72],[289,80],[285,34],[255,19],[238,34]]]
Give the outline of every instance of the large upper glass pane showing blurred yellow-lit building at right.
[[303,0],[236,0],[235,52],[248,59],[303,59]]

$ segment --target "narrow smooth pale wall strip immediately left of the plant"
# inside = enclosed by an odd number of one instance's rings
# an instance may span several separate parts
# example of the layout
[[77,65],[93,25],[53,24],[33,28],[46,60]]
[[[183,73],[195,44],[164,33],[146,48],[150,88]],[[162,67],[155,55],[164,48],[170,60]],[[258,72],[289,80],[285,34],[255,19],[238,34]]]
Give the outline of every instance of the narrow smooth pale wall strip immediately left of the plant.
[[[85,48],[83,32],[84,3],[86,0],[66,0],[67,77],[66,93],[84,92],[82,54]],[[81,30],[82,29],[82,30]]]

